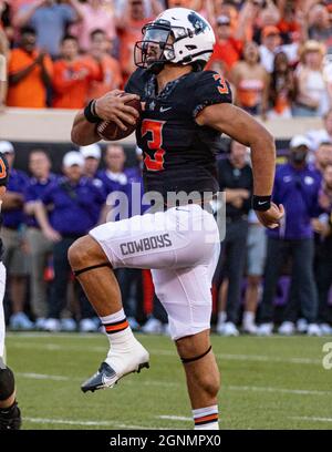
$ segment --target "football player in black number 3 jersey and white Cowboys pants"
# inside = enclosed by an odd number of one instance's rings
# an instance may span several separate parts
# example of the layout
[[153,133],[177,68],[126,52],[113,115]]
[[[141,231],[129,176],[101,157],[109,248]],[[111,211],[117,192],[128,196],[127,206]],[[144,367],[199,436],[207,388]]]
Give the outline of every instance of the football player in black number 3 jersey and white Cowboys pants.
[[[197,12],[174,8],[143,29],[135,47],[138,69],[118,96],[112,91],[93,100],[73,123],[79,145],[98,141],[95,123],[137,120],[125,103],[141,99],[136,127],[144,151],[147,192],[163,196],[162,212],[106,223],[72,245],[69,259],[105,327],[110,351],[98,371],[82,384],[94,391],[113,387],[129,372],[148,367],[147,350],[135,339],[122,308],[113,269],[151,268],[154,286],[169,320],[184,363],[195,429],[218,429],[219,371],[210,345],[211,278],[220,244],[204,194],[218,192],[214,147],[226,133],[251,148],[253,208],[267,227],[278,227],[282,206],[271,202],[276,148],[255,119],[231,104],[229,84],[203,71],[215,43],[210,24]],[[193,194],[168,202],[172,193]],[[197,196],[198,194],[198,196]],[[200,225],[201,228],[199,230]]]

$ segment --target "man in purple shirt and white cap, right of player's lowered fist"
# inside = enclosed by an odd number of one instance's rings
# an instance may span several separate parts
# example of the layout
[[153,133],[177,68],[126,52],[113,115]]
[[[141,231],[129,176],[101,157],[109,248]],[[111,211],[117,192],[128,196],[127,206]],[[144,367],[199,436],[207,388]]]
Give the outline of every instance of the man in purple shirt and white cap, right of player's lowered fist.
[[320,189],[315,172],[307,164],[308,138],[294,136],[290,142],[289,163],[277,168],[273,201],[283,204],[286,216],[280,228],[268,232],[264,286],[261,302],[261,325],[258,333],[271,335],[273,297],[281,264],[292,257],[289,302],[279,332],[294,332],[299,306],[308,321],[308,335],[320,333],[317,325],[318,295],[313,277],[313,230],[311,219],[319,214]]

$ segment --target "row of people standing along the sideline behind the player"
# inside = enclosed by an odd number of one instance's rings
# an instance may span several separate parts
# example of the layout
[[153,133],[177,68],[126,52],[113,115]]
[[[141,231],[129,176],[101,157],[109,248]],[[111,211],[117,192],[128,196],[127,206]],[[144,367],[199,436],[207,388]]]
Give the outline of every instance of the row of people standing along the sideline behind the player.
[[[144,214],[141,150],[137,164],[127,167],[118,144],[81,147],[64,155],[62,174],[52,172],[42,148],[30,152],[29,174],[15,168],[12,143],[0,142],[0,152],[11,167],[1,232],[10,327],[97,330],[98,320],[72,277],[68,249],[94,226],[120,219],[115,192],[127,196],[129,216]],[[286,154],[273,188],[286,215],[272,230],[251,210],[249,150],[230,142],[229,152],[219,155],[226,237],[214,278],[214,317],[220,335],[269,336],[274,326],[282,335],[332,333],[332,110],[324,129],[293,136]],[[116,277],[132,328],[167,332],[148,271],[118,269]],[[146,291],[149,301],[143,306]]]

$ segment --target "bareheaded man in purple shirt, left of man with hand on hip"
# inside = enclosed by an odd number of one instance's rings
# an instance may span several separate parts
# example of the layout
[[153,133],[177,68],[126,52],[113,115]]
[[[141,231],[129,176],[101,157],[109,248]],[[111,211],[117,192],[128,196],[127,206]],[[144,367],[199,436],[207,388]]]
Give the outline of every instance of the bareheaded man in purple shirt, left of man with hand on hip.
[[30,153],[29,170],[32,177],[24,194],[24,212],[27,214],[27,239],[31,259],[31,307],[35,316],[35,328],[43,329],[48,315],[48,286],[44,280],[44,269],[52,255],[53,243],[41,232],[34,217],[34,206],[50,184],[56,179],[56,176],[51,173],[51,161],[43,150],[34,150]]

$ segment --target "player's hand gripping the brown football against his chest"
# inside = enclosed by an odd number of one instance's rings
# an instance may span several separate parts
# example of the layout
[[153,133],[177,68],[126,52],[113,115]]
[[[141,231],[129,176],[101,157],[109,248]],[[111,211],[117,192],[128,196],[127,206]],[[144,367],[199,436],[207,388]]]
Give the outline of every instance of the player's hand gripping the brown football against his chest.
[[121,90],[110,91],[96,100],[95,112],[102,120],[113,121],[123,131],[126,131],[127,127],[124,122],[134,125],[138,117],[137,111],[126,105],[126,102],[134,99],[139,100],[139,96],[136,94],[125,94],[124,91]]

